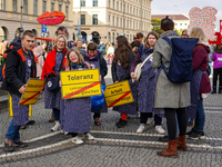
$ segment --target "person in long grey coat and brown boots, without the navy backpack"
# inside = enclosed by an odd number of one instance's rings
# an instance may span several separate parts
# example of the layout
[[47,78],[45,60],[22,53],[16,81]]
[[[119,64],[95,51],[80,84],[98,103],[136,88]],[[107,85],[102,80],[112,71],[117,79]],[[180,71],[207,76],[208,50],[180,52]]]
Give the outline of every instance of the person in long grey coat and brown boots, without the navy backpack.
[[[180,37],[176,33],[176,31],[173,30],[174,22],[168,17],[161,20],[161,29],[163,33],[160,36],[160,39],[157,41],[154,46],[153,60],[152,60],[152,67],[159,69],[160,72],[157,79],[154,108],[164,108],[168,131],[169,131],[169,141],[168,141],[169,145],[164,151],[159,151],[158,155],[164,157],[178,157],[176,149],[183,149],[183,150],[186,149],[185,131],[186,131],[188,120],[186,120],[185,108],[190,106],[190,82],[179,81],[175,84],[169,80],[170,73],[167,72],[170,71],[169,67],[172,61],[171,56],[173,52],[172,46],[169,42],[171,41],[173,42],[172,39],[176,40]],[[192,58],[192,52],[191,52],[191,58]],[[176,78],[180,77],[175,77],[175,79]],[[175,114],[178,116],[179,129],[180,129],[180,135],[178,139],[176,139]]]

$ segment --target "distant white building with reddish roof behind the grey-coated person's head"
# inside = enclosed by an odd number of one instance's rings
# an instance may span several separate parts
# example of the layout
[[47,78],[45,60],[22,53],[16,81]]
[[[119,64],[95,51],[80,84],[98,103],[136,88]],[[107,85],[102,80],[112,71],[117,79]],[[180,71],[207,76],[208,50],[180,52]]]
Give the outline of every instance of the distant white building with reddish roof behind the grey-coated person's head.
[[[152,14],[152,19],[164,19],[167,14]],[[188,26],[190,24],[191,20],[190,18],[182,13],[182,14],[168,14],[170,19],[174,22],[174,28],[179,31],[188,29]]]

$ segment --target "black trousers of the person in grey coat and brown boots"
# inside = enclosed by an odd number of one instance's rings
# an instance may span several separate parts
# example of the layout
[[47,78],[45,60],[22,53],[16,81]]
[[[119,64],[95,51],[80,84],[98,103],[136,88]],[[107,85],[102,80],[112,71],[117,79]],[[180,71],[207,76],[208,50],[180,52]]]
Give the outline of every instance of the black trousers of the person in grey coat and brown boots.
[[164,108],[165,117],[167,117],[167,125],[168,125],[168,134],[169,140],[176,139],[176,120],[175,114],[178,115],[178,124],[180,129],[180,135],[185,135],[188,118],[185,108]]

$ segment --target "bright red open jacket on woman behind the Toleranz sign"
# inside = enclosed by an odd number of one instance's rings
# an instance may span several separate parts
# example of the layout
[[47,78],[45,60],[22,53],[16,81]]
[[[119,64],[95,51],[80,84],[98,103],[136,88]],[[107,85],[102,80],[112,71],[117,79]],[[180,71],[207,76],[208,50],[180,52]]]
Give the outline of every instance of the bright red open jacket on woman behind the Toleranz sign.
[[[67,49],[63,49],[63,53],[67,51]],[[44,75],[46,73],[54,73],[53,71],[53,67],[56,66],[56,53],[57,53],[57,49],[50,51],[47,56],[47,59],[44,61],[43,68],[42,68],[42,73],[41,73],[41,79],[44,79]],[[64,60],[63,60],[63,68],[64,68],[64,63],[67,61],[67,53],[64,56]]]

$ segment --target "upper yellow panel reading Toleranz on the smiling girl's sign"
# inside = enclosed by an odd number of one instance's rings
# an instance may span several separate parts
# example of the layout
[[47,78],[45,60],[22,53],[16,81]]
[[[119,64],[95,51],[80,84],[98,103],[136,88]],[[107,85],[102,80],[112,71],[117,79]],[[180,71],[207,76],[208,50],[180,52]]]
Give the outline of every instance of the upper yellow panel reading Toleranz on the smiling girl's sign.
[[83,82],[99,81],[100,71],[99,69],[90,70],[72,70],[60,72],[62,85],[77,85]]

